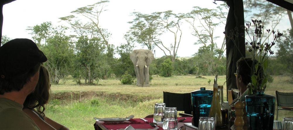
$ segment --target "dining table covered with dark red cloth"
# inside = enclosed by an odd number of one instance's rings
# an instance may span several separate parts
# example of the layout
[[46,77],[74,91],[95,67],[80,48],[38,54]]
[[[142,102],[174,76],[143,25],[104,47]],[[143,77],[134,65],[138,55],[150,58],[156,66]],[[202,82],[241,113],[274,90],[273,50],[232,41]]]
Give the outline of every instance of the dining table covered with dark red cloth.
[[[197,127],[191,125],[192,117],[178,117],[178,120],[186,118],[183,121],[178,122],[178,129],[181,126],[185,126],[186,130],[198,130]],[[145,119],[146,121],[144,121]],[[127,126],[131,125],[134,129],[154,129],[155,126],[151,126],[149,123],[153,122],[153,118],[132,118],[127,121],[122,122],[104,122],[96,120],[94,124],[95,130],[118,130],[125,129]],[[158,123],[159,128],[157,130],[163,130],[163,123]],[[218,129],[217,129],[218,130]],[[228,130],[228,128],[219,129],[219,130]]]

